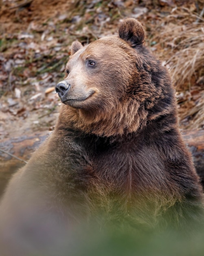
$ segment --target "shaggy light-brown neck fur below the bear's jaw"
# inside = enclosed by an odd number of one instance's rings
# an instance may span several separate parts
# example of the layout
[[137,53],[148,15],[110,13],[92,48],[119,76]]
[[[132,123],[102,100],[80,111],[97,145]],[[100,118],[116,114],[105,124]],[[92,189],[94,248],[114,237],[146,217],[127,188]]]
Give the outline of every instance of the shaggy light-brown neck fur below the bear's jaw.
[[85,111],[67,105],[61,106],[57,130],[71,128],[83,134],[100,137],[123,137],[143,128],[148,112],[137,101],[116,104],[108,111]]

